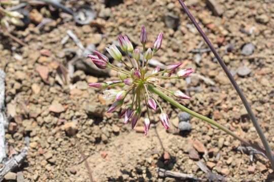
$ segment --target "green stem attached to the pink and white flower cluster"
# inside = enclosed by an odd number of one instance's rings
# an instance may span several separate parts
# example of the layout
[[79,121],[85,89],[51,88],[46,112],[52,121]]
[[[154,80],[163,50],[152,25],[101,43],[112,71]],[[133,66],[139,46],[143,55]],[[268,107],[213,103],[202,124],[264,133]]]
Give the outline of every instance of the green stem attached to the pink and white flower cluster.
[[217,128],[223,130],[224,132],[226,132],[227,134],[233,136],[235,139],[241,141],[243,144],[247,145],[247,146],[251,146],[253,148],[255,148],[256,150],[266,154],[265,150],[261,149],[260,147],[253,145],[252,143],[250,143],[249,141],[242,139],[241,137],[239,137],[238,135],[236,135],[234,132],[232,132],[231,130],[229,130],[228,128],[226,128],[225,126],[219,124],[218,122],[214,121],[213,119],[210,119],[208,117],[205,117],[199,113],[196,113],[188,108],[186,108],[185,106],[179,104],[178,102],[176,102],[174,99],[168,97],[167,95],[165,95],[164,93],[162,93],[159,89],[149,85],[149,90],[155,94],[157,94],[158,96],[160,96],[162,99],[164,99],[165,101],[169,102],[170,104],[174,105],[175,107],[181,109],[184,112],[187,112],[188,114],[199,118],[213,126],[216,126]]

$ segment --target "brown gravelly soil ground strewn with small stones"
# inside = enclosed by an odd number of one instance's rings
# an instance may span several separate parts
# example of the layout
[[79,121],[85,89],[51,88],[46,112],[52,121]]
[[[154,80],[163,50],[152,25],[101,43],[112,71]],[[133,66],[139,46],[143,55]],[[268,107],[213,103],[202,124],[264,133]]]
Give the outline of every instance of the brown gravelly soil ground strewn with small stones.
[[[218,6],[214,8],[221,15],[213,15],[216,11],[205,1],[186,4],[218,48],[274,149],[273,3],[215,2]],[[116,73],[94,69],[81,53],[75,59],[75,70],[70,69],[70,61],[77,56],[79,47],[70,37],[66,38],[67,30],[72,30],[85,48],[90,45],[106,53],[105,46],[117,41],[120,33],[128,35],[141,48],[139,35],[141,25],[145,24],[149,33],[147,47],[152,47],[159,32],[164,33],[161,51],[155,59],[166,65],[182,61],[185,67],[195,69],[196,75],[163,85],[170,90],[179,88],[191,96],[190,101],[182,102],[186,107],[260,143],[241,100],[213,54],[201,44],[202,38],[177,1],[63,3],[73,10],[87,4],[97,17],[89,25],[81,26],[71,15],[52,7],[32,5],[26,8],[32,13],[31,23],[12,30],[27,47],[0,35],[0,68],[7,74],[10,119],[7,152],[11,156],[29,145],[25,163],[14,171],[17,175],[23,172],[24,181],[89,181],[81,153],[88,156],[86,161],[94,181],[176,181],[161,178],[157,168],[209,180],[197,161],[227,181],[273,180],[265,158],[255,155],[251,161],[249,155],[236,150],[241,145],[238,141],[201,120],[191,118],[192,130],[178,133],[180,111],[165,102],[162,106],[172,123],[168,132],[158,122],[159,113],[155,114],[155,127],[147,136],[143,133],[143,120],[132,130],[118,118],[118,113],[106,113],[111,102],[102,98],[100,90],[88,87],[88,82],[115,80]],[[38,26],[45,19],[51,21]],[[66,69],[73,73],[71,79],[62,78],[67,76],[62,71]]]

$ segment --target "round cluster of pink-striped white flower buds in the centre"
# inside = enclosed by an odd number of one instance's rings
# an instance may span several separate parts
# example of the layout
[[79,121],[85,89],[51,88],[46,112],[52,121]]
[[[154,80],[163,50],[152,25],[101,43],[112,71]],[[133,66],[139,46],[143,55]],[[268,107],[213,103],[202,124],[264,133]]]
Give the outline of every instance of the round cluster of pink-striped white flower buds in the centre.
[[[150,92],[149,87],[157,87],[173,95],[179,99],[190,99],[187,95],[180,90],[172,92],[169,89],[165,89],[159,85],[160,79],[180,79],[189,76],[194,70],[182,69],[176,74],[176,70],[182,65],[182,63],[176,63],[166,66],[164,70],[160,70],[156,67],[152,72],[148,71],[148,64],[152,57],[161,48],[163,39],[163,33],[159,33],[157,36],[153,48],[146,50],[147,32],[145,26],[142,26],[140,35],[140,41],[143,45],[143,53],[140,49],[134,49],[132,43],[127,36],[118,36],[118,41],[121,50],[125,53],[126,59],[122,57],[121,52],[116,45],[109,45],[106,49],[109,54],[117,61],[124,64],[125,69],[121,69],[109,62],[109,59],[94,51],[94,55],[89,55],[92,62],[100,69],[112,69],[118,72],[120,80],[110,81],[106,83],[89,83],[89,86],[105,89],[104,98],[115,100],[112,106],[108,109],[108,113],[121,109],[120,117],[124,117],[124,123],[131,121],[132,129],[135,127],[137,121],[142,114],[142,107],[147,109],[146,117],[144,119],[144,133],[147,134],[151,125],[151,112],[160,111],[159,120],[165,129],[169,128],[169,119],[167,114],[163,111],[161,104],[157,101],[153,93]],[[142,54],[142,56],[141,56]],[[143,59],[141,60],[141,57]],[[115,89],[120,87],[121,89]],[[125,102],[126,97],[131,97],[129,102]]]

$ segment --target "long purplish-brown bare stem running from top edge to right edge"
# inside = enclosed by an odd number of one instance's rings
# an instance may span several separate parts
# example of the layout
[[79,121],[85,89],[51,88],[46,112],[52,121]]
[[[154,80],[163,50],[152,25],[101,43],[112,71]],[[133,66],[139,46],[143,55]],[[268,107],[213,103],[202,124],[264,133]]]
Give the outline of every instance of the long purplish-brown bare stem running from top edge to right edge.
[[272,169],[274,169],[274,157],[272,155],[271,149],[267,143],[267,140],[263,134],[262,129],[260,128],[259,123],[257,122],[255,115],[247,101],[247,99],[245,98],[242,90],[239,88],[238,84],[236,83],[236,81],[234,80],[232,74],[230,73],[230,71],[227,69],[224,61],[222,60],[222,58],[220,57],[220,55],[218,54],[218,52],[216,51],[216,49],[214,48],[213,44],[211,43],[211,41],[209,40],[209,38],[207,37],[207,35],[204,34],[204,32],[202,31],[202,29],[200,28],[200,26],[198,25],[198,23],[196,22],[195,18],[192,16],[192,14],[190,13],[190,11],[188,10],[187,6],[184,4],[184,2],[182,0],[178,0],[179,3],[181,4],[183,10],[185,11],[185,13],[188,15],[189,19],[191,20],[191,22],[194,24],[194,26],[196,27],[196,29],[198,30],[198,32],[201,34],[202,38],[204,39],[205,42],[207,42],[207,44],[209,45],[211,51],[213,52],[213,54],[215,55],[215,57],[217,58],[219,64],[222,66],[224,72],[226,73],[227,77],[229,78],[230,82],[232,83],[232,85],[234,86],[235,90],[237,91],[239,97],[241,98],[243,104],[246,107],[246,110],[250,116],[250,119],[254,125],[254,127],[257,130],[257,133],[260,136],[260,139],[262,141],[262,144],[265,148],[266,151],[266,156],[268,157]]

